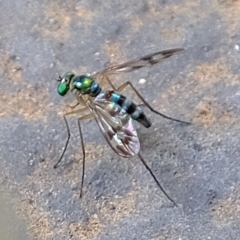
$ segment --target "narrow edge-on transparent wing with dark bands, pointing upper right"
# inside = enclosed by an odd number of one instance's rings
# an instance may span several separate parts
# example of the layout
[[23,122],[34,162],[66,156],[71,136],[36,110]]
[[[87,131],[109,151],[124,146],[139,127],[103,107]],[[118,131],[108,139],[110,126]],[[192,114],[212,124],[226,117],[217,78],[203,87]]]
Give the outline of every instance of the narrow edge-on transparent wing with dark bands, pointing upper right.
[[121,72],[131,72],[148,65],[151,66],[156,63],[159,63],[164,59],[167,59],[173,55],[181,53],[183,50],[184,50],[183,48],[175,48],[175,49],[169,49],[169,50],[151,53],[146,56],[131,60],[123,64],[105,68],[102,71],[95,73],[94,75],[97,75],[97,74],[110,75],[110,74],[116,74]]

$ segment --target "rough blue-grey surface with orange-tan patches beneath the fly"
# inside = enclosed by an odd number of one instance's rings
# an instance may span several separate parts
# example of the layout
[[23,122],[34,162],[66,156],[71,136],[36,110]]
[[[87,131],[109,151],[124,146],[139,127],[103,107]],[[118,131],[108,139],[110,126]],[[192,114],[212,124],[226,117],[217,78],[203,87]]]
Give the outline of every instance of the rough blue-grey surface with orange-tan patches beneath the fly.
[[[240,1],[0,1],[0,180],[36,239],[239,239]],[[80,200],[77,116],[59,74],[164,49],[179,56],[112,78],[130,80],[157,110],[137,126],[141,152],[173,207],[137,157],[123,159],[94,120],[84,123],[86,179]],[[141,78],[146,79],[140,84]],[[138,102],[128,89],[125,95]],[[2,194],[4,194],[2,192]]]

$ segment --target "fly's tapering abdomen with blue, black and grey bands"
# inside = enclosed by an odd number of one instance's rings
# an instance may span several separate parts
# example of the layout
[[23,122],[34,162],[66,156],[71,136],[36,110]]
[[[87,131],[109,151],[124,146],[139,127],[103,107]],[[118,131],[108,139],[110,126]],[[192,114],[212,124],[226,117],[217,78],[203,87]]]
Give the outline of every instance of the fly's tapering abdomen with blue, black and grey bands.
[[138,121],[146,128],[149,128],[152,125],[151,121],[146,117],[142,109],[122,94],[108,91],[106,95],[109,97],[110,101],[118,104],[122,109],[124,109],[132,119]]

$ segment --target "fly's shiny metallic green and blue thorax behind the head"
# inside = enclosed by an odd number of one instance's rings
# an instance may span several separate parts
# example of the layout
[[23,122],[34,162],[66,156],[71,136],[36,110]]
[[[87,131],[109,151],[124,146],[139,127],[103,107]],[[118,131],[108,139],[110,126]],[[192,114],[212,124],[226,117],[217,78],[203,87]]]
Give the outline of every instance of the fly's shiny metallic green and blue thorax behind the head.
[[101,92],[99,84],[96,83],[93,78],[86,75],[74,77],[72,87],[80,94],[87,94],[91,97],[96,97]]

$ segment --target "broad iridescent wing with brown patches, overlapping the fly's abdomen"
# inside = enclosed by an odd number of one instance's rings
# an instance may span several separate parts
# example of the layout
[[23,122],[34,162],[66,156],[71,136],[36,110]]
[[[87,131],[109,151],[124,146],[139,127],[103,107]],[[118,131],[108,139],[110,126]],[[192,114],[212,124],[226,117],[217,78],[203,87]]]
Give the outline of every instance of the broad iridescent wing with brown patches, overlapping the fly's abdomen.
[[126,158],[138,154],[140,142],[129,114],[117,104],[100,97],[88,105],[102,134],[117,154]]

